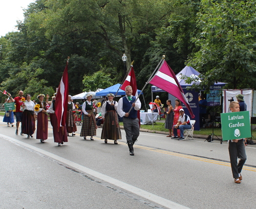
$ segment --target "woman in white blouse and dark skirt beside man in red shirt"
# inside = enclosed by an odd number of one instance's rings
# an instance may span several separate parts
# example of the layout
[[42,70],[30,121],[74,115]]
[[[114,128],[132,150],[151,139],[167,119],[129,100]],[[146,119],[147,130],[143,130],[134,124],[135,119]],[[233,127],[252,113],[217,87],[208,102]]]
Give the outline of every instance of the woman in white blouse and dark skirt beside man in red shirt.
[[[35,118],[34,118],[34,107],[35,103],[31,101],[31,95],[26,95],[26,101],[23,102],[20,110],[23,110],[22,117],[22,133],[25,133],[29,137],[33,137],[35,132]],[[16,112],[17,113],[17,112]]]

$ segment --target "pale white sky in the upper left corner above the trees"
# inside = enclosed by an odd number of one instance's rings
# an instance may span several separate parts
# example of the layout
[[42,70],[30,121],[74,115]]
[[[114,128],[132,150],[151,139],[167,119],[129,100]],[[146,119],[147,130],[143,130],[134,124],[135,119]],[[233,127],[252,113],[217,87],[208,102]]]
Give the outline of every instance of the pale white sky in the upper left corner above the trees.
[[7,0],[1,1],[1,12],[0,12],[0,37],[5,36],[8,32],[15,32],[17,29],[17,20],[24,21],[23,9],[27,9],[30,3],[34,0]]

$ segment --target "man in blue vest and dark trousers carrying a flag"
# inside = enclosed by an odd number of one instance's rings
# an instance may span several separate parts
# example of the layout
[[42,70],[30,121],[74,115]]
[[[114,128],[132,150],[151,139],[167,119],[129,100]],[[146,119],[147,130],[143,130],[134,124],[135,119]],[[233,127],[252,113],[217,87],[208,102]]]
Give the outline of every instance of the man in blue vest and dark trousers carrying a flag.
[[[130,150],[130,155],[134,155],[133,145],[137,141],[140,134],[139,119],[137,117],[138,110],[140,110],[141,103],[139,98],[133,96],[132,86],[125,87],[125,97],[118,101],[117,113],[123,117],[123,128],[126,134],[127,145]],[[132,107],[132,109],[131,109]],[[129,110],[131,109],[130,113]]]

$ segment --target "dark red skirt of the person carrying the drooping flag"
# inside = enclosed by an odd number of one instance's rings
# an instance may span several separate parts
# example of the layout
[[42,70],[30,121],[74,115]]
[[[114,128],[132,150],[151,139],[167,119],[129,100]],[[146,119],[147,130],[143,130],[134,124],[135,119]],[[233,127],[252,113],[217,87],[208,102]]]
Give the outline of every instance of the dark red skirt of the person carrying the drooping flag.
[[56,143],[68,142],[66,126],[61,126],[59,127],[59,130],[58,130],[58,120],[57,120],[56,114],[54,113],[50,113],[50,120],[52,124],[54,142]]

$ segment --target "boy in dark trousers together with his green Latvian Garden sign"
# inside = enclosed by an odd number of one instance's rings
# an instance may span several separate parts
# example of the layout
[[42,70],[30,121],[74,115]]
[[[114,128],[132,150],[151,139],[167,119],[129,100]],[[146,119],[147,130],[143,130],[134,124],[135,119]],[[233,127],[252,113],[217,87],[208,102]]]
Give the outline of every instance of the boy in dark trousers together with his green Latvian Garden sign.
[[231,113],[221,114],[222,138],[224,141],[229,140],[228,151],[234,182],[241,183],[241,171],[246,161],[243,137],[249,137],[251,133],[249,112],[239,112],[238,102],[230,102],[229,108]]

